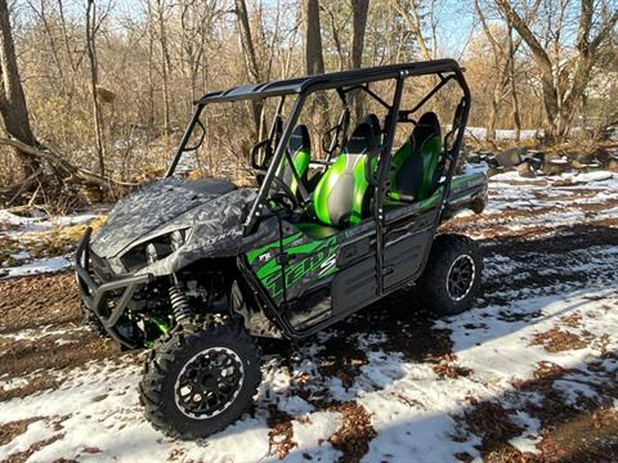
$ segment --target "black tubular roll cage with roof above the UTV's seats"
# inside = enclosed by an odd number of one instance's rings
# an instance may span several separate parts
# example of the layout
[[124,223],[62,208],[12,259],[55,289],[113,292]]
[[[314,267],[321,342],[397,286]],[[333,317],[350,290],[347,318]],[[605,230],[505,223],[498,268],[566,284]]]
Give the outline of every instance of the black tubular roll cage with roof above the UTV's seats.
[[[432,90],[429,91],[413,108],[409,110],[401,110],[400,104],[404,80],[407,78],[421,75],[437,75],[439,78],[439,82],[437,82],[437,84],[432,88]],[[371,91],[371,89],[369,88],[369,84],[371,82],[378,82],[382,80],[396,81],[396,88],[392,104],[385,102],[385,100],[383,100],[379,95]],[[262,216],[264,209],[266,208],[266,202],[268,200],[268,194],[271,189],[271,185],[273,184],[273,178],[275,177],[277,168],[280,165],[284,156],[286,158],[286,162],[291,167],[293,176],[296,178],[296,180],[299,180],[298,172],[295,169],[295,166],[291,159],[291,155],[288,150],[286,150],[286,147],[288,145],[288,141],[293,132],[293,129],[297,124],[301,109],[308,95],[317,91],[334,89],[337,91],[337,94],[341,98],[344,107],[347,108],[347,102],[345,98],[346,94],[350,91],[360,89],[388,110],[386,124],[387,127],[385,127],[386,137],[384,143],[379,147],[379,151],[382,156],[380,156],[378,175],[376,176],[376,178],[372,179],[372,183],[374,183],[374,185],[376,186],[376,219],[378,219],[378,221],[381,221],[383,218],[382,200],[388,188],[387,182],[389,181],[388,174],[391,161],[391,147],[393,145],[396,123],[414,122],[413,120],[409,119],[409,116],[422,108],[422,106],[424,106],[424,104],[426,104],[426,102],[428,102],[428,100],[431,99],[435,95],[435,93],[437,93],[451,80],[454,80],[455,82],[457,82],[457,84],[459,84],[459,87],[463,91],[464,95],[461,98],[461,102],[457,106],[455,119],[453,121],[453,128],[449,133],[449,136],[453,136],[453,134],[455,134],[455,139],[453,141],[453,144],[448,147],[447,152],[445,153],[446,157],[450,161],[448,171],[446,171],[445,174],[446,188],[444,191],[444,197],[446,198],[446,195],[448,195],[449,193],[450,179],[453,177],[453,172],[455,170],[457,154],[459,153],[461,143],[464,139],[464,130],[466,127],[466,122],[468,121],[468,114],[470,111],[470,89],[468,88],[468,84],[466,84],[466,80],[464,79],[463,70],[461,69],[461,67],[459,67],[459,64],[457,64],[455,60],[450,59],[432,60],[426,62],[411,62],[406,64],[391,64],[389,66],[374,67],[368,69],[354,69],[352,71],[310,75],[304,78],[293,78],[288,80],[282,80],[279,82],[266,82],[263,84],[239,86],[229,88],[226,91],[207,93],[200,99],[197,99],[196,102],[194,102],[195,109],[192,119],[183,134],[181,143],[178,147],[178,150],[176,150],[176,154],[174,155],[172,163],[170,163],[170,167],[165,176],[169,177],[174,174],[174,171],[183,153],[196,150],[201,145],[204,138],[205,128],[200,120],[200,115],[205,106],[216,102],[238,102],[250,99],[281,97],[281,99],[279,100],[279,104],[277,105],[277,112],[273,119],[273,124],[271,126],[271,130],[268,134],[267,139],[268,141],[271,141],[271,143],[275,141],[276,147],[273,150],[272,159],[268,165],[266,174],[264,175],[264,180],[262,181],[262,185],[260,186],[260,190],[258,191],[257,198],[255,198],[255,201],[251,206],[249,215],[247,216],[247,220],[244,223],[244,234],[247,235],[251,233],[253,228],[255,228],[255,225],[258,224],[258,221]],[[295,99],[292,111],[290,112],[290,115],[284,125],[282,133],[280,134],[280,136],[276,136],[277,118],[281,117],[284,98],[287,95],[297,95],[297,98]],[[346,118],[344,113],[342,112],[342,115],[339,118],[339,124],[331,128],[332,130],[336,129],[337,137],[339,137],[341,132],[343,132],[343,136],[345,136],[345,132],[347,131],[347,127],[345,127],[346,119],[348,122],[347,125],[349,125],[349,114]],[[200,130],[202,131],[201,136],[198,139],[198,143],[192,146],[187,146],[196,127],[200,128]],[[331,129],[329,129],[329,131]],[[331,143],[330,147],[333,151],[336,149],[336,140],[334,141],[334,143]],[[301,185],[301,182],[299,182],[299,185]],[[304,188],[301,188],[301,196],[303,197],[304,202],[308,201],[309,198]]]

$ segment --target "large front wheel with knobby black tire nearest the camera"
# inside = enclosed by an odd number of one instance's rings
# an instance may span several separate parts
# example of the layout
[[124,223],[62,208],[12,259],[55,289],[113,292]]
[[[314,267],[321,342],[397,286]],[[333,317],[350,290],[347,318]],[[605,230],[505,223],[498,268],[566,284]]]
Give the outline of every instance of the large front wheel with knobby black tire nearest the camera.
[[146,418],[181,439],[234,423],[260,384],[260,348],[240,324],[184,326],[150,351],[139,384]]

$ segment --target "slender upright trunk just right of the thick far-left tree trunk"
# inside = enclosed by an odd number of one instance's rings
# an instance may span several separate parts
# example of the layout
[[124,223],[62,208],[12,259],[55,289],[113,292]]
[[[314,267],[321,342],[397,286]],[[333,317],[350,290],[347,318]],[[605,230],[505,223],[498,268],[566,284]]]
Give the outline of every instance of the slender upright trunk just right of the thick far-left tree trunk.
[[94,0],[88,0],[86,8],[86,47],[88,59],[90,60],[90,88],[92,92],[92,112],[94,118],[95,141],[97,146],[97,157],[99,161],[99,173],[105,175],[105,144],[103,141],[103,112],[99,102],[97,85],[99,80],[99,70],[97,62],[97,48],[95,45],[96,36],[96,5]]

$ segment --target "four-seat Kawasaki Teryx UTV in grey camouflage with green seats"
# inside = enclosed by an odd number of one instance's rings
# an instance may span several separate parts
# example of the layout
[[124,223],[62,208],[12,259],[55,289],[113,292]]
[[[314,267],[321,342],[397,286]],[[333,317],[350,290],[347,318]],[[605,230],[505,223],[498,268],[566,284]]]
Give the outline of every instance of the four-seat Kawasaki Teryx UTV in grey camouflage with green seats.
[[[422,76],[430,89],[405,106],[404,86]],[[426,108],[447,84],[461,97],[441,126]],[[301,110],[328,91],[341,102],[338,123],[311,134]],[[384,117],[353,126],[358,95]],[[257,187],[179,175],[183,154],[201,145],[207,106],[243,100],[275,102],[271,130],[249,152]],[[482,172],[455,175],[470,109],[457,62],[236,87],[194,107],[165,178],[119,201],[76,254],[87,322],[124,348],[150,348],[139,391],[157,429],[200,438],[242,416],[261,379],[260,338],[312,335],[411,285],[437,313],[472,305],[479,249],[437,233],[462,208],[482,211],[487,196]]]

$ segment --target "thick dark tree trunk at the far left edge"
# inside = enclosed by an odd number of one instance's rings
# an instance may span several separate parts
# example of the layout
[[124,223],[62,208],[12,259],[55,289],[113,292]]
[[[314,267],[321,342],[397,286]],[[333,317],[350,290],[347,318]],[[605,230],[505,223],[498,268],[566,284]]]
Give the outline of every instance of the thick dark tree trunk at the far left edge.
[[[17,69],[6,0],[0,0],[0,78],[0,115],[6,132],[26,145],[34,145],[36,141],[30,128],[30,117]],[[14,150],[21,163],[24,178],[38,171],[40,163],[35,156],[20,150],[19,147]]]

